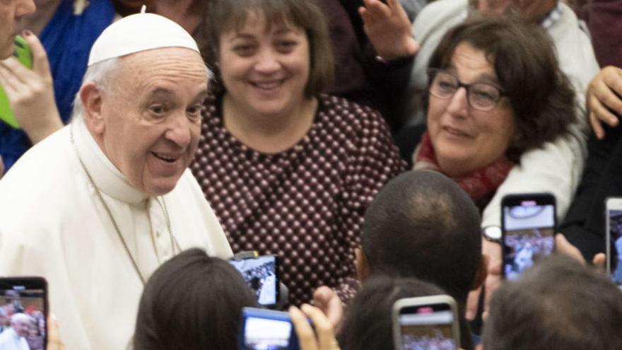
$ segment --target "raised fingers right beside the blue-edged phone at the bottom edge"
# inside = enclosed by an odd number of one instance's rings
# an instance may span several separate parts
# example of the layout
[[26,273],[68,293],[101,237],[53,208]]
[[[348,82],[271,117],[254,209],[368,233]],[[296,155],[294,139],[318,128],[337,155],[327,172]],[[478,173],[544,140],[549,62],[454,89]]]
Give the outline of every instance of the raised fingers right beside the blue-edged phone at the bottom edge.
[[[303,304],[300,309],[302,312],[295,306],[289,308],[289,315],[296,329],[296,335],[298,335],[300,350],[339,350],[333,326],[322,310],[307,304]],[[313,322],[315,332],[309,325],[307,317],[310,317]]]

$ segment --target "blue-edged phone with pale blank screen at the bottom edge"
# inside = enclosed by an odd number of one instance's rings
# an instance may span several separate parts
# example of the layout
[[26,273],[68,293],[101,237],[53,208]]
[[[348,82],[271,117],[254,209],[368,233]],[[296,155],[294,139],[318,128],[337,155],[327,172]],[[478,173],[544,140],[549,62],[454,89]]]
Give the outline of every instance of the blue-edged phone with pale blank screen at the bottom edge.
[[283,311],[242,308],[241,350],[298,350],[291,318]]

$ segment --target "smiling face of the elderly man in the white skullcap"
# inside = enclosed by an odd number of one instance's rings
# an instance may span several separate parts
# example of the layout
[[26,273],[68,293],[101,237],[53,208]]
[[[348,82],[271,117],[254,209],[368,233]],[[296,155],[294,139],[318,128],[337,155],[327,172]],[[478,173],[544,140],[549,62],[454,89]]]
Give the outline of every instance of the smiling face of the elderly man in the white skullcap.
[[194,158],[207,77],[199,53],[165,48],[119,59],[95,139],[131,185],[170,192]]

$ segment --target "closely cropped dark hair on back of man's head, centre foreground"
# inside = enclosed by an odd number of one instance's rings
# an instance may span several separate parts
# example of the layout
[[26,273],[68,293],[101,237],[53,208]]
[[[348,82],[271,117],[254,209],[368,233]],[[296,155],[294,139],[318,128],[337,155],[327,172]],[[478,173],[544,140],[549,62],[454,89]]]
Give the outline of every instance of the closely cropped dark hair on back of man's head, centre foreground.
[[380,189],[365,212],[361,245],[371,274],[430,281],[464,303],[481,265],[480,225],[456,182],[412,170]]

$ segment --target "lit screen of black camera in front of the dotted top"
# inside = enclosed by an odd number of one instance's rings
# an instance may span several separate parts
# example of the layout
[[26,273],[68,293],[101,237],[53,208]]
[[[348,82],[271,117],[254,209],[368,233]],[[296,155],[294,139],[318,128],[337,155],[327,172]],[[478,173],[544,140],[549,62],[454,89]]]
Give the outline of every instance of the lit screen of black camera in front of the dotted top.
[[230,264],[242,274],[248,286],[251,288],[259,305],[269,306],[278,303],[278,256],[276,255],[257,255],[250,252],[250,255],[236,255],[229,260]]

